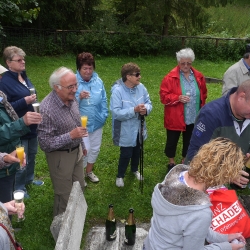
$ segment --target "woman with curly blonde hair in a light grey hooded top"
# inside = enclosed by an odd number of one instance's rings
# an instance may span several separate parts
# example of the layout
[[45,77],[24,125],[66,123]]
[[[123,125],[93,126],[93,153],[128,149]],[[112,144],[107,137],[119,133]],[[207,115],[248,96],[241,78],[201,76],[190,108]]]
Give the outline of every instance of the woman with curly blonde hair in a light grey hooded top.
[[[211,203],[206,189],[240,176],[244,155],[231,140],[218,137],[204,144],[190,166],[179,164],[158,183],[152,195],[153,217],[144,250],[239,250],[241,233],[212,231]],[[230,243],[233,239],[240,244]],[[205,240],[210,242],[204,245]]]

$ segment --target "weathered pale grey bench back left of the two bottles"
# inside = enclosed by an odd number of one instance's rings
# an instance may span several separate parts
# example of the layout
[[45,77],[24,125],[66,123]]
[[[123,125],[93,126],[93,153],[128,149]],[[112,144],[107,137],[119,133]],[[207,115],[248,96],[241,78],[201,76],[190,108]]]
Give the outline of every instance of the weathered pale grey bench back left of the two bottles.
[[87,212],[87,203],[78,181],[73,183],[66,211],[55,216],[50,231],[55,250],[79,250]]

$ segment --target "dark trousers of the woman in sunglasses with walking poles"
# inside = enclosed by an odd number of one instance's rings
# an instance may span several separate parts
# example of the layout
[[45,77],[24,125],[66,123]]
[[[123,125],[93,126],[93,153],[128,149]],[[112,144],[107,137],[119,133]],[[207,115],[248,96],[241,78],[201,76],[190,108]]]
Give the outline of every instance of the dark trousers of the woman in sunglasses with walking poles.
[[118,178],[124,178],[129,161],[131,159],[131,172],[138,171],[138,165],[140,160],[140,142],[139,136],[137,136],[135,147],[120,147],[120,159],[118,165]]

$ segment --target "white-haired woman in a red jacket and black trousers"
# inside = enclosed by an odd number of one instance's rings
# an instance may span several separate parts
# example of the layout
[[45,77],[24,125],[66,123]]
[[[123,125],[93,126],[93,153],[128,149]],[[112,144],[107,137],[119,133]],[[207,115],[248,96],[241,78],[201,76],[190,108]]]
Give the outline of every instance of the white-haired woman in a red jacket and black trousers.
[[160,99],[164,104],[164,127],[167,130],[165,154],[169,158],[168,170],[175,166],[175,153],[182,133],[182,162],[184,161],[194,121],[207,98],[205,77],[192,67],[195,55],[185,48],[176,53],[178,65],[162,80]]

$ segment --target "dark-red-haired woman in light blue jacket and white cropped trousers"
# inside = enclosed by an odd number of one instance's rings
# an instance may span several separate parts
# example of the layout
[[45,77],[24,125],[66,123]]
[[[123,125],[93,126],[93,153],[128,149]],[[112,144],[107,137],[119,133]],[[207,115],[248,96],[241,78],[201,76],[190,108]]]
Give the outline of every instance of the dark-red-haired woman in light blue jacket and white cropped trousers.
[[79,84],[76,99],[81,116],[88,117],[89,150],[86,176],[90,181],[98,182],[99,178],[93,173],[93,167],[100,152],[102,130],[108,117],[107,96],[103,81],[94,72],[95,60],[92,54],[83,52],[77,55],[76,67]]

